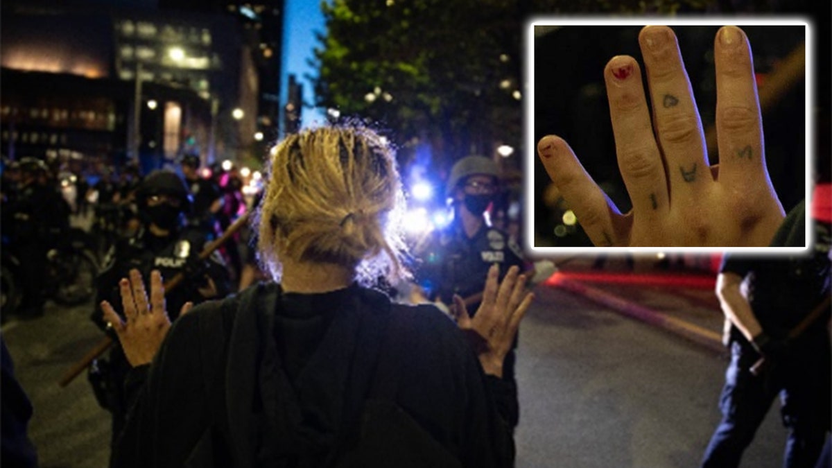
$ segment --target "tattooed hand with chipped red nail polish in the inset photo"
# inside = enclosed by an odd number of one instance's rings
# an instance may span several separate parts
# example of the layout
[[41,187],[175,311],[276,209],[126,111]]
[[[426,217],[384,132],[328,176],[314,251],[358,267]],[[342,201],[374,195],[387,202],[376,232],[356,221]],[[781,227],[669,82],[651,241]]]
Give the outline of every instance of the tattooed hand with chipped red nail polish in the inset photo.
[[705,132],[676,35],[669,27],[648,26],[638,41],[652,108],[633,57],[612,57],[604,69],[631,212],[619,212],[567,142],[550,135],[537,143],[537,152],[552,182],[596,246],[768,246],[785,213],[765,167],[745,33],[722,27],[714,43],[719,167],[708,167]]

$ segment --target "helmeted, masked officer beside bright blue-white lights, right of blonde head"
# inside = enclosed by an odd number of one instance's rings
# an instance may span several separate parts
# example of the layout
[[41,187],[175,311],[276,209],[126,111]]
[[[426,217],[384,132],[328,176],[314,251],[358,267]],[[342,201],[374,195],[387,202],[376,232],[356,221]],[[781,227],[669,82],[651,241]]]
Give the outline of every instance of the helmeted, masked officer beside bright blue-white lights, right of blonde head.
[[[485,215],[498,194],[498,168],[482,156],[460,159],[451,169],[446,194],[453,200],[453,221],[431,232],[414,249],[419,264],[415,271],[416,300],[427,299],[450,306],[453,295],[466,300],[468,311],[476,311],[488,268],[497,264],[500,278],[511,266],[527,270],[517,243],[492,227]],[[515,341],[516,345],[516,341]],[[515,353],[510,351],[503,378],[514,383]],[[512,386],[517,401],[516,386]],[[518,416],[512,424],[517,426]]]

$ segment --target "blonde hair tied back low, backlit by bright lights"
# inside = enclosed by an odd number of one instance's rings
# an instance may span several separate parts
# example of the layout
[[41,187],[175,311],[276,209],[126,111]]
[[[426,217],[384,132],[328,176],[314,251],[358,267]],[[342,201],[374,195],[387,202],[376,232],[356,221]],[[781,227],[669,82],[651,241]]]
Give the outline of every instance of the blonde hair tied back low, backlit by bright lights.
[[333,263],[359,279],[401,276],[404,210],[392,150],[367,127],[318,127],[272,151],[260,204],[260,258]]

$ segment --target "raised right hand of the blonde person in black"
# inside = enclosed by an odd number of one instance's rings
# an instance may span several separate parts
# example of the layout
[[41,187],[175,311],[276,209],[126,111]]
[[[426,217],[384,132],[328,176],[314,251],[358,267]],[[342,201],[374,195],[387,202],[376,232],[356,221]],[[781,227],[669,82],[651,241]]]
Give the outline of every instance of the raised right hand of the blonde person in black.
[[498,284],[498,266],[488,270],[483,301],[473,318],[468,316],[463,298],[453,296],[457,325],[471,338],[483,370],[493,376],[503,376],[503,361],[511,350],[520,321],[534,299],[534,295],[525,290],[526,276],[518,275],[519,271],[517,266],[512,266],[503,282]]

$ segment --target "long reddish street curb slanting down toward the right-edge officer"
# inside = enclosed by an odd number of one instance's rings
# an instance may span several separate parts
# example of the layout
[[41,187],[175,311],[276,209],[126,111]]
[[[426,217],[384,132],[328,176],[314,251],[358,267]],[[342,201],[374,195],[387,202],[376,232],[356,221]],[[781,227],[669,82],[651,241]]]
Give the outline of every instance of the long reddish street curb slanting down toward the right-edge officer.
[[652,326],[657,326],[666,331],[676,333],[676,335],[682,336],[701,346],[705,346],[711,351],[718,353],[725,352],[725,346],[722,345],[722,337],[719,333],[716,333],[716,331],[711,331],[691,322],[668,316],[659,311],[654,311],[648,307],[641,306],[634,301],[628,301],[620,296],[610,294],[607,291],[602,291],[597,287],[588,286],[581,281],[572,281],[567,278],[561,278],[557,281],[555,286],[561,287],[577,295],[584,296],[591,301],[602,304],[603,306],[610,307],[625,316],[629,316],[636,320],[646,322]]

